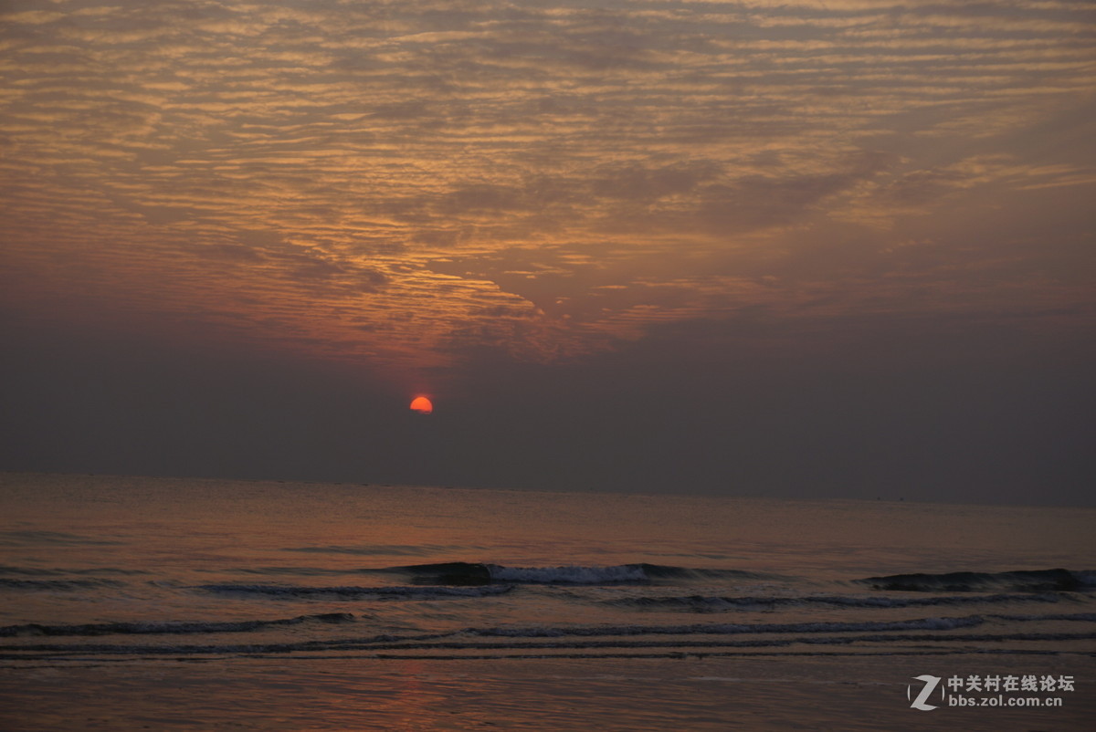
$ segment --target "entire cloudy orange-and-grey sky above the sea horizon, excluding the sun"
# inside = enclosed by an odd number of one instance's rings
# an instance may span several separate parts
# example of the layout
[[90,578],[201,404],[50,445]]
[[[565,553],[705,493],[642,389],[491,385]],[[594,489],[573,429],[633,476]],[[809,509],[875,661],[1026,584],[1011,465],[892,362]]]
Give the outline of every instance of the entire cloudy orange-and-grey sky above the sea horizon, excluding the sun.
[[3,0],[0,469],[1091,505],[1094,38]]

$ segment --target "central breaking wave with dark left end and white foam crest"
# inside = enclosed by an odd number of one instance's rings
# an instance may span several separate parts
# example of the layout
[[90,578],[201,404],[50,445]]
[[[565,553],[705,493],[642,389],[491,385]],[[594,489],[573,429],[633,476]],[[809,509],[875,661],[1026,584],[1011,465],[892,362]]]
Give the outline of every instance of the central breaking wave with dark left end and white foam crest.
[[414,582],[446,585],[518,584],[646,584],[662,580],[716,577],[772,579],[774,575],[744,570],[708,570],[663,564],[615,564],[608,567],[567,564],[558,567],[507,567],[487,562],[439,562],[392,567],[380,572],[409,574]]

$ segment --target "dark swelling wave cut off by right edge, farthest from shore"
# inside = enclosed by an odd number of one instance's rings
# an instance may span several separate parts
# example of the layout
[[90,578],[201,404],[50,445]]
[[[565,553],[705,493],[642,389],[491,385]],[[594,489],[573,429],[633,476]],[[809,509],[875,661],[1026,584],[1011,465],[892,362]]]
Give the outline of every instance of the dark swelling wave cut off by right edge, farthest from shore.
[[904,592],[1080,592],[1096,587],[1096,571],[1015,570],[1012,572],[948,572],[891,574],[857,580],[875,590]]

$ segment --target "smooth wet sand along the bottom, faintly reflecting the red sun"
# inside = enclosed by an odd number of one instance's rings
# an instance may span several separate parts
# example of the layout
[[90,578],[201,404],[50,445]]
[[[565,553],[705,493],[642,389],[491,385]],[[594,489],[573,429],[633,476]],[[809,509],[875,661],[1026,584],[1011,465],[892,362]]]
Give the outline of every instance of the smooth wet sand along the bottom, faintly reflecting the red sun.
[[[911,709],[926,673],[1076,690],[1052,709]],[[1096,661],[1070,654],[139,661],[0,670],[0,729],[1081,731],[1094,688]]]

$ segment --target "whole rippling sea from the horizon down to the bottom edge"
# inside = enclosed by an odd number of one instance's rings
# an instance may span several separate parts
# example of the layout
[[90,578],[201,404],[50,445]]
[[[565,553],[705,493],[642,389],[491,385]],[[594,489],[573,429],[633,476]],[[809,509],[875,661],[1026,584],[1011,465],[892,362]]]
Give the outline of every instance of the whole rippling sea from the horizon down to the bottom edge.
[[0,729],[1091,730],[1094,526],[8,473]]

